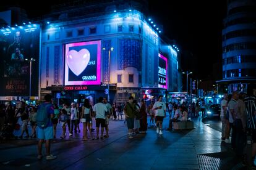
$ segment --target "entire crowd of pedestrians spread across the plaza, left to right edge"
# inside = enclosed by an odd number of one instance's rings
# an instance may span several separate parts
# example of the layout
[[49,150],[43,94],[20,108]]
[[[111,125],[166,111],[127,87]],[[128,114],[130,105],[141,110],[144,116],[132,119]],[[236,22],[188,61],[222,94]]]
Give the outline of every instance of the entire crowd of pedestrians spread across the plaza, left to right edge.
[[[247,135],[252,136],[252,156],[256,155],[256,107],[255,98],[256,87],[248,86],[247,94],[233,92],[224,94],[221,100],[221,140],[231,143],[233,150],[239,158],[244,158],[245,140]],[[169,127],[172,129],[173,122],[188,121],[190,116],[197,116],[198,111],[205,111],[205,103],[201,105],[192,103],[187,107],[187,103],[164,103],[163,96],[159,95],[156,102],[151,100],[146,105],[145,100],[139,102],[130,96],[128,102],[121,104],[108,103],[106,98],[100,97],[98,103],[90,104],[90,100],[85,99],[83,103],[64,103],[62,108],[51,103],[51,95],[45,95],[45,103],[38,107],[28,107],[21,101],[18,108],[12,105],[0,104],[0,134],[2,138],[14,137],[14,129],[21,129],[19,138],[38,138],[38,159],[42,158],[41,147],[46,140],[46,159],[52,160],[56,156],[50,154],[50,140],[56,138],[57,124],[62,127],[60,138],[66,136],[73,137],[74,134],[82,131],[82,140],[105,140],[109,137],[109,119],[122,119],[127,126],[129,139],[136,134],[146,134],[148,127],[156,127],[156,133],[163,134],[163,119],[169,113]],[[40,123],[40,115],[47,113],[46,124]],[[150,117],[149,123],[147,116]],[[22,124],[19,126],[18,119]],[[93,126],[93,123],[95,125]],[[82,123],[82,129],[79,124]],[[31,132],[28,133],[28,124]],[[36,128],[38,127],[38,128]],[[96,127],[94,136],[93,127]],[[101,128],[100,128],[101,127]],[[111,130],[111,129],[110,129]],[[232,133],[231,133],[232,132]],[[230,138],[231,134],[231,140]],[[254,159],[253,159],[254,160]]]

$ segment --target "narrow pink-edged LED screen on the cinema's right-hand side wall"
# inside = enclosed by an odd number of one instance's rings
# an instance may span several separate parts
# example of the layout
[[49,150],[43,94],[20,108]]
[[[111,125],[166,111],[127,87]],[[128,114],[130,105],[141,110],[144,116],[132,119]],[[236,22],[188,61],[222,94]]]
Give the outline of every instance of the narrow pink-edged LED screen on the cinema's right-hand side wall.
[[167,89],[168,83],[168,59],[158,54],[158,87]]

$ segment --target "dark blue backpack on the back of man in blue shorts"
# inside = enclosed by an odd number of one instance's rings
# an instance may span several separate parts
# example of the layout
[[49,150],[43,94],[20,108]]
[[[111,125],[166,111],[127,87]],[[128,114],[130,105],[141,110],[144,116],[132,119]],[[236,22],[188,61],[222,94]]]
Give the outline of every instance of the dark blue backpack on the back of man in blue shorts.
[[47,106],[49,104],[42,104],[40,105],[40,108],[37,111],[36,114],[36,124],[38,127],[46,127],[49,121],[48,113],[47,113]]

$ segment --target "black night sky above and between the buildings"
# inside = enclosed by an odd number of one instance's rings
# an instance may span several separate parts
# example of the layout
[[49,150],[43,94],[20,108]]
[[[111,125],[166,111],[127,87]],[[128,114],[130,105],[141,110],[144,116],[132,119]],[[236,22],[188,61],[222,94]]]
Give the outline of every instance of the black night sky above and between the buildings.
[[[54,1],[54,4],[59,2],[62,1]],[[194,78],[212,76],[212,64],[221,64],[222,60],[221,30],[226,16],[226,1],[148,0],[148,4],[148,17],[163,25],[164,35],[177,41],[181,49],[182,70],[194,71]],[[31,1],[28,0],[4,1],[0,9],[6,5],[23,7],[29,18],[41,17],[51,9],[46,2],[40,2],[38,8],[29,7]]]

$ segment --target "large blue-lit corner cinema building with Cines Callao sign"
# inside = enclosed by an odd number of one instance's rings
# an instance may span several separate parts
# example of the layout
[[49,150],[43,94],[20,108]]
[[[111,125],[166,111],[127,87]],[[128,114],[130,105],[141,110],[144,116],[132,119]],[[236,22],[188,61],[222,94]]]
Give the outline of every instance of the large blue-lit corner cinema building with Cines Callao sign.
[[51,92],[60,103],[95,103],[109,92],[111,102],[126,102],[179,91],[179,49],[148,17],[147,1],[68,6],[42,26],[41,100]]

